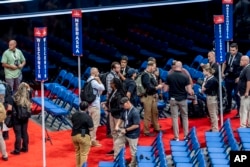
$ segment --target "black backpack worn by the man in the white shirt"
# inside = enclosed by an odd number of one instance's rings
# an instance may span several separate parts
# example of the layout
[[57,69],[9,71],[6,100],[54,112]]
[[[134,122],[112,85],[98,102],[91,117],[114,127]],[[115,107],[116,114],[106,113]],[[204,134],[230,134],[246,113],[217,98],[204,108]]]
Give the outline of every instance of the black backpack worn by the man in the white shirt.
[[80,97],[82,101],[86,101],[88,103],[92,103],[96,99],[96,95],[94,94],[91,81],[94,79],[91,79],[86,84],[84,84],[84,87],[81,89]]

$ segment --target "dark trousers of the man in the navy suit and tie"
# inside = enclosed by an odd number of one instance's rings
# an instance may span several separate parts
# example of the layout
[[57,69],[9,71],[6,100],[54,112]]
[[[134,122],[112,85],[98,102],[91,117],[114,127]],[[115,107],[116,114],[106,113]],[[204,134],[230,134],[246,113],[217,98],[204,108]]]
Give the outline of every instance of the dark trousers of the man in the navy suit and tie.
[[[238,84],[235,83],[234,80],[225,79],[225,87],[227,90],[227,106],[226,109],[232,108],[232,99],[234,96],[234,100],[237,104],[237,110],[240,110],[240,97],[238,96]],[[232,95],[232,91],[234,90],[234,94]]]

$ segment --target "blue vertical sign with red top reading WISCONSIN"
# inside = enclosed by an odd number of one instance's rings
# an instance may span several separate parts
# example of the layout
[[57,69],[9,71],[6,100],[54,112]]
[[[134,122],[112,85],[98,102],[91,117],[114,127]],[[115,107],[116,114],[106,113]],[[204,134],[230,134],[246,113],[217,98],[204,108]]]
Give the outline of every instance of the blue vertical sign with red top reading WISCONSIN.
[[34,28],[36,81],[48,80],[47,27]]

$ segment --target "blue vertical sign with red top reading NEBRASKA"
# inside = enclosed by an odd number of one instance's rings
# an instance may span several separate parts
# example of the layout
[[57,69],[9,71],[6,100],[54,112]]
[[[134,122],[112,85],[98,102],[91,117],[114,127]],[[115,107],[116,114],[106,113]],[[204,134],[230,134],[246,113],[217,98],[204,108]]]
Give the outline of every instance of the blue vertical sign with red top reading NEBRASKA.
[[82,56],[82,12],[72,10],[72,49],[73,56]]

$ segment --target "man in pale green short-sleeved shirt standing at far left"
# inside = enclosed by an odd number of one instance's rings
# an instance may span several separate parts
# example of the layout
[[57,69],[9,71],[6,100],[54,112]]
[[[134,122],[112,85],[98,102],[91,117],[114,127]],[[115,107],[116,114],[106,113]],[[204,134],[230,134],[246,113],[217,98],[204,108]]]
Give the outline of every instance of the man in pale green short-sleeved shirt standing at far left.
[[18,89],[22,81],[22,68],[26,64],[25,57],[20,49],[16,48],[15,40],[9,41],[9,49],[2,56],[5,81],[11,86],[13,93]]

